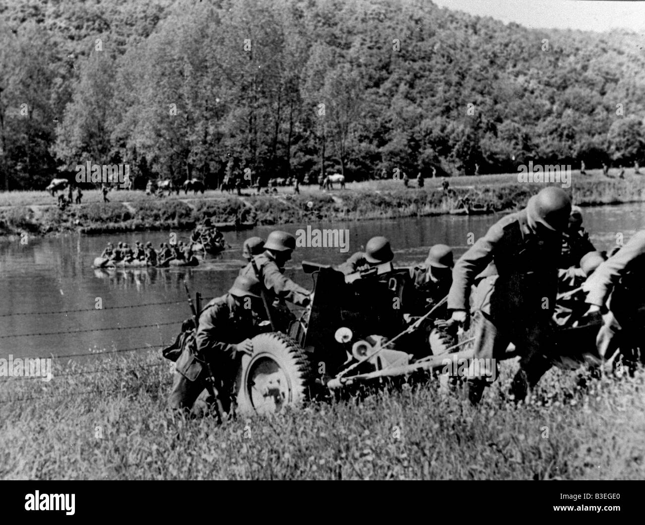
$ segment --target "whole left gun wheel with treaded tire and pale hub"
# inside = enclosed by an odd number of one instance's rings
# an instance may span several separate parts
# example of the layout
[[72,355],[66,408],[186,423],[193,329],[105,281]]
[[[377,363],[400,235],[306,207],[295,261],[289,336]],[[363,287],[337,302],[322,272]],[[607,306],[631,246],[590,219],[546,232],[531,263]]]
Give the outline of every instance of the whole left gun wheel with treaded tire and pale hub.
[[253,356],[244,358],[238,377],[238,411],[268,414],[304,402],[312,374],[301,347],[281,333],[252,341]]

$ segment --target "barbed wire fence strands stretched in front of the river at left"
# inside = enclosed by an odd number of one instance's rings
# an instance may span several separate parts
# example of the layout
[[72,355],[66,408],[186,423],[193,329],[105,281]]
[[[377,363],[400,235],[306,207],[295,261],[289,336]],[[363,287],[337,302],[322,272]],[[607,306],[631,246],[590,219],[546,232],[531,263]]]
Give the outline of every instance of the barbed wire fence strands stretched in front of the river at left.
[[[210,301],[212,298],[203,298],[203,305],[205,305],[208,301]],[[141,303],[141,304],[134,304],[134,305],[119,305],[119,306],[110,306],[110,307],[102,307],[102,308],[80,308],[80,309],[68,309],[68,310],[55,310],[55,311],[42,311],[42,312],[14,312],[14,313],[5,313],[5,314],[0,314],[0,318],[8,318],[8,317],[19,317],[19,316],[48,316],[48,315],[66,315],[70,313],[83,313],[83,312],[103,312],[103,311],[110,311],[110,310],[125,310],[125,309],[135,309],[135,308],[143,308],[143,307],[154,307],[154,306],[162,306],[162,305],[172,305],[172,304],[185,304],[186,300],[172,300],[172,301],[161,301],[161,302],[152,302],[152,303]],[[112,327],[101,327],[101,328],[89,328],[89,329],[78,329],[78,330],[64,330],[64,331],[53,331],[53,332],[34,332],[34,333],[26,333],[26,334],[2,334],[0,335],[0,340],[3,339],[13,339],[13,338],[32,338],[32,337],[39,337],[39,336],[51,336],[51,335],[71,335],[74,336],[76,334],[81,334],[81,333],[93,333],[93,332],[104,332],[104,331],[121,331],[121,330],[136,330],[136,329],[144,329],[144,328],[154,328],[154,327],[162,327],[162,326],[171,326],[171,325],[181,325],[183,320],[177,320],[177,321],[171,321],[171,322],[159,322],[159,323],[151,323],[151,324],[141,324],[141,325],[131,325],[131,326],[112,326]],[[128,347],[128,348],[113,348],[113,349],[108,349],[108,350],[103,350],[103,351],[90,351],[90,352],[85,352],[85,353],[69,353],[69,354],[59,354],[59,355],[54,355],[50,354],[47,356],[38,356],[38,357],[25,357],[25,358],[16,358],[16,359],[23,359],[26,362],[29,360],[43,360],[43,359],[63,359],[63,358],[79,358],[79,357],[87,357],[87,356],[112,356],[112,355],[119,355],[123,354],[126,352],[136,352],[136,351],[144,351],[144,350],[159,350],[162,347],[166,347],[171,345],[172,342],[160,342],[159,345],[153,345],[153,344],[146,344],[146,345],[140,345],[140,346],[135,346],[135,347]],[[81,375],[92,375],[92,374],[98,374],[98,373],[117,373],[117,372],[123,372],[123,373],[133,373],[134,370],[143,370],[143,369],[154,369],[154,368],[159,368],[159,367],[168,367],[170,363],[154,363],[154,364],[146,364],[146,365],[128,365],[128,367],[122,367],[122,366],[116,366],[116,367],[102,367],[99,366],[95,369],[84,369],[84,370],[79,370],[79,371],[64,371],[63,373],[58,373],[55,375],[56,378],[70,378],[72,376],[81,376]],[[170,375],[169,375],[170,376]],[[41,375],[19,375],[19,376],[13,376],[11,378],[8,377],[2,377],[0,378],[0,382],[2,380],[5,380],[8,382],[8,380],[42,380],[43,376]],[[39,395],[29,395],[29,396],[20,396],[17,398],[0,398],[0,404],[6,404],[6,403],[18,403],[18,402],[27,402],[30,400],[36,400],[41,398],[41,396],[46,395],[49,398],[80,398],[85,395],[95,395],[95,394],[101,394],[102,396],[110,396],[110,395],[115,395],[118,393],[123,393],[124,389],[123,386],[120,386],[117,389],[112,389],[112,390],[101,390],[101,388],[97,385],[95,389],[89,389],[87,391],[66,391],[64,393],[39,393]]]

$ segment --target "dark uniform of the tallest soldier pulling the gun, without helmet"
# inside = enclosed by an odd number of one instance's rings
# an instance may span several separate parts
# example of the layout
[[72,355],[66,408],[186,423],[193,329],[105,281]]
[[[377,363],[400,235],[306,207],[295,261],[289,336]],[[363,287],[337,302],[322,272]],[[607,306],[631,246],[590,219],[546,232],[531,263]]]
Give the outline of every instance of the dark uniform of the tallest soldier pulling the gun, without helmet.
[[[557,232],[537,236],[524,209],[495,223],[453,270],[448,309],[462,311],[469,309],[471,284],[487,271],[477,294],[485,307],[475,329],[474,358],[499,358],[513,342],[521,355],[521,371],[513,382],[520,397],[550,367],[544,352],[550,340],[561,242]],[[475,374],[471,368],[469,378],[484,379]]]

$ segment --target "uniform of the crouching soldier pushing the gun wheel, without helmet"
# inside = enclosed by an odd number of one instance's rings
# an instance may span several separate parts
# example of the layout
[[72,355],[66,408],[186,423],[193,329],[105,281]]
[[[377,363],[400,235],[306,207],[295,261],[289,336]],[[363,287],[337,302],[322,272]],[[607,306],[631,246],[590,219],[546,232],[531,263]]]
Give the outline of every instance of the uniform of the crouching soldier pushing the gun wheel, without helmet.
[[[226,411],[230,409],[239,366],[239,355],[234,345],[259,333],[259,319],[252,310],[239,307],[228,293],[211,300],[199,315],[195,335],[197,354],[210,364],[215,387]],[[181,358],[177,360],[178,370],[180,361]],[[190,369],[184,373],[192,376]],[[206,369],[201,369],[196,376],[192,376],[194,380],[189,380],[183,373],[175,372],[169,406],[192,409],[194,415],[203,413],[213,402],[206,389],[207,373]]]

